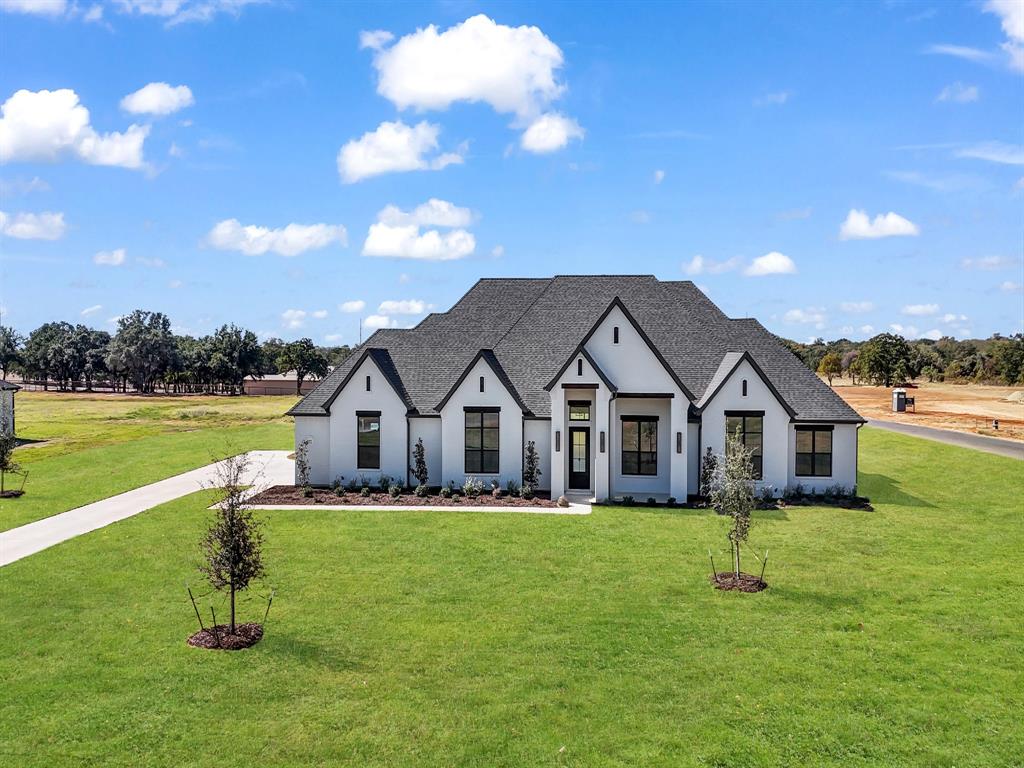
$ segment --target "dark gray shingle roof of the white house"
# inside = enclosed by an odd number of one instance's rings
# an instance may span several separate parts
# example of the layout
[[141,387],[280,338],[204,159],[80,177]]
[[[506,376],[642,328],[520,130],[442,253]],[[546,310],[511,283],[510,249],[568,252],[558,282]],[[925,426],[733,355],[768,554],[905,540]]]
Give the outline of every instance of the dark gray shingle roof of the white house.
[[[364,348],[387,350],[412,412],[435,414],[466,367],[486,349],[528,412],[550,416],[545,385],[615,298],[696,398],[714,385],[727,353],[745,351],[796,418],[860,420],[760,323],[728,318],[688,281],[653,275],[481,280],[449,311],[430,314],[413,329],[378,331]],[[325,415],[360,358],[356,353],[338,366],[289,413]]]

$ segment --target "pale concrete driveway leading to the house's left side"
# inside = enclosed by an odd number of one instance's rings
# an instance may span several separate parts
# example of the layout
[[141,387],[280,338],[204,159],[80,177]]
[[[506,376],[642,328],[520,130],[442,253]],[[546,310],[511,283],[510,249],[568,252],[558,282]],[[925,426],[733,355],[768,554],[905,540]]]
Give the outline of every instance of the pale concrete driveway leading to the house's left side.
[[[246,484],[279,485],[295,480],[295,463],[287,451],[250,452],[250,477]],[[132,517],[139,512],[208,487],[216,479],[217,464],[194,469],[150,485],[112,496],[101,502],[61,512],[0,532],[0,565],[20,560],[54,544]]]

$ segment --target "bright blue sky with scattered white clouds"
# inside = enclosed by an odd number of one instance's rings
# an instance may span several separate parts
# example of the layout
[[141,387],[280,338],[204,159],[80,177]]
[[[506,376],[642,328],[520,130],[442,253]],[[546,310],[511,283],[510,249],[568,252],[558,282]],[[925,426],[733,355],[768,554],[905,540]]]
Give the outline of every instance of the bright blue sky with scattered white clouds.
[[1012,0],[0,9],[23,332],[140,307],[353,343],[575,272],[798,340],[1024,325]]

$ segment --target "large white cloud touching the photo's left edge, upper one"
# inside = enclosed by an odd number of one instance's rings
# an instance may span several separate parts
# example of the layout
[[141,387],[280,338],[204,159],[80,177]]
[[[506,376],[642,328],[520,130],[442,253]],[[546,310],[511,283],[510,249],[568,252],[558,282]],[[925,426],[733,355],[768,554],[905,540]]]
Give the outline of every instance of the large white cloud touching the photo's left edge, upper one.
[[56,162],[66,155],[91,165],[142,168],[148,126],[99,134],[70,88],[19,90],[0,108],[0,163]]

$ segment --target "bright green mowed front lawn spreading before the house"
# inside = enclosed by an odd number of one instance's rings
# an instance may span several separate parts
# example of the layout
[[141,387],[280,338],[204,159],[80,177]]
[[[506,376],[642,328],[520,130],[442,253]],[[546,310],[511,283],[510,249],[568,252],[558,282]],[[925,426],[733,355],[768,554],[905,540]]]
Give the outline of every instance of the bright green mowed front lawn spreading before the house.
[[184,643],[209,495],[46,550],[0,570],[0,763],[1020,765],[1022,465],[861,434],[876,511],[759,514],[757,595],[701,512],[271,511],[231,654]]

